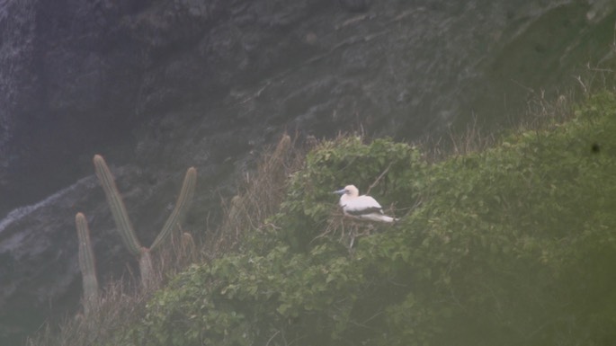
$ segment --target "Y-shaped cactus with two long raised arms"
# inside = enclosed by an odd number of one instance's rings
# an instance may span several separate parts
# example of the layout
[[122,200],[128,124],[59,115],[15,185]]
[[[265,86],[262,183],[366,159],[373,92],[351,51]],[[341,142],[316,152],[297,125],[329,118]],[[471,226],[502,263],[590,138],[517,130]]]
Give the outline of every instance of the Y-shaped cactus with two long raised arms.
[[115,185],[112,172],[105,163],[103,156],[94,155],[93,161],[96,175],[103,186],[103,191],[105,192],[109,206],[112,209],[112,216],[118,226],[118,231],[120,231],[122,242],[129,249],[130,253],[138,257],[141,283],[144,288],[149,288],[155,281],[153,278],[154,271],[152,270],[150,251],[156,250],[156,248],[160,246],[160,244],[162,244],[169,235],[171,235],[175,226],[178,225],[183,217],[183,214],[188,209],[188,205],[192,200],[192,195],[197,182],[197,170],[194,167],[191,167],[188,171],[186,171],[182,190],[177,198],[174,210],[167,218],[165,225],[156,236],[156,239],[152,245],[147,248],[142,246],[138,241],[135,230],[130,223],[129,214],[127,213],[124,202],[122,201],[120,191],[118,191],[118,188]]

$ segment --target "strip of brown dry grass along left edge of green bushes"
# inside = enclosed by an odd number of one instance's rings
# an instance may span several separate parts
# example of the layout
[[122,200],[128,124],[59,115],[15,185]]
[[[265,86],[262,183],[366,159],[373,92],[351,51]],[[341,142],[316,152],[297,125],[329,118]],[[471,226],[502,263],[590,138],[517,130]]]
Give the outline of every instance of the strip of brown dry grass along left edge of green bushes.
[[203,244],[182,229],[170,241],[152,253],[154,279],[151,287],[140,288],[135,275],[112,280],[102,290],[100,300],[92,304],[87,318],[81,313],[59,324],[41,326],[26,342],[28,346],[85,346],[111,342],[113,334],[138,321],[152,293],[191,263],[207,262],[212,257],[237,248],[242,236],[262,225],[279,207],[289,175],[304,161],[306,150],[298,149],[289,135],[265,150],[254,173],[246,173],[240,192],[227,204],[224,221]]

